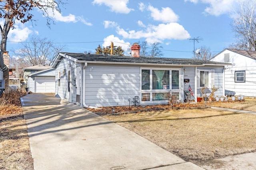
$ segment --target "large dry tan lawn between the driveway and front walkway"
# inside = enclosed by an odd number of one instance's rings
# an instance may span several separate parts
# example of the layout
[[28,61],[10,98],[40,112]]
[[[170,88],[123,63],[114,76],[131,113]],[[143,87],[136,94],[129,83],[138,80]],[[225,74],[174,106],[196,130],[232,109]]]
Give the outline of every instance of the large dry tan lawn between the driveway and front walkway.
[[187,161],[256,150],[256,115],[216,109],[105,115]]

